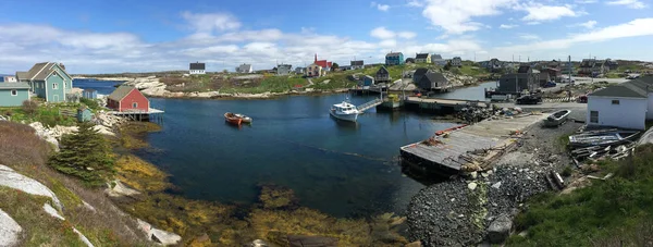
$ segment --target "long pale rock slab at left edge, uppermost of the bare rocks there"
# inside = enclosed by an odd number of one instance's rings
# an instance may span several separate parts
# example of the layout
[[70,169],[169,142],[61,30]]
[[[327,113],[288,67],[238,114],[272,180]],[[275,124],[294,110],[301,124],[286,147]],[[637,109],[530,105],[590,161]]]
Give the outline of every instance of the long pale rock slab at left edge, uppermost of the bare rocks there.
[[7,186],[35,196],[50,197],[57,209],[61,210],[63,208],[63,205],[50,188],[2,164],[0,164],[0,186]]

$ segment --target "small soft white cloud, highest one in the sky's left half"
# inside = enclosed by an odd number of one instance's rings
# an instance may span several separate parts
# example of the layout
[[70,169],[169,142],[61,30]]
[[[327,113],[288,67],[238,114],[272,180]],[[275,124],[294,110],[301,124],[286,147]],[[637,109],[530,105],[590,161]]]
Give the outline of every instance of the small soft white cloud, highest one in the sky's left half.
[[192,13],[184,11],[182,12],[182,17],[196,33],[222,32],[241,27],[241,22],[226,13]]

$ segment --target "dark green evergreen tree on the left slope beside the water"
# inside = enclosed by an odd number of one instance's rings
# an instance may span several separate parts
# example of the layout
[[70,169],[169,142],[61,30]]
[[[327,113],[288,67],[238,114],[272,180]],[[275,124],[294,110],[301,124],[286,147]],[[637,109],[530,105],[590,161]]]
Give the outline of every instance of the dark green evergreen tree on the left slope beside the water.
[[77,176],[90,186],[101,186],[113,176],[113,157],[107,140],[93,128],[94,124],[78,124],[75,134],[61,138],[61,150],[49,164],[59,172]]

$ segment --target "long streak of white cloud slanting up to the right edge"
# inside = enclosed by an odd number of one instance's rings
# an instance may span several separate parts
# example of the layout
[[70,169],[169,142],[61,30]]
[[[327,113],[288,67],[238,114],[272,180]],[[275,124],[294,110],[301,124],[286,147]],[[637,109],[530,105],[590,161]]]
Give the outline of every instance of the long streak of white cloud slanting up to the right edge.
[[497,48],[500,52],[525,52],[538,50],[567,49],[576,44],[606,41],[618,38],[653,36],[653,17],[637,18],[628,23],[594,29],[589,33],[572,35],[563,39],[551,39],[528,45]]

